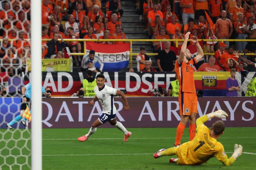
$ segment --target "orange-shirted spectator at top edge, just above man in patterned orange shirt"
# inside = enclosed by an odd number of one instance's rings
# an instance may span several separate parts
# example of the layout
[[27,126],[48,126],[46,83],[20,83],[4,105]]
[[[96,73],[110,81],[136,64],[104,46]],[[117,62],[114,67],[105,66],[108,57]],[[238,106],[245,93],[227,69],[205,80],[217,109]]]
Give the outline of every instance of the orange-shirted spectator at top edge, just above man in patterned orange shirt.
[[217,17],[220,17],[220,12],[223,10],[221,0],[209,0],[210,17],[213,23],[216,23]]

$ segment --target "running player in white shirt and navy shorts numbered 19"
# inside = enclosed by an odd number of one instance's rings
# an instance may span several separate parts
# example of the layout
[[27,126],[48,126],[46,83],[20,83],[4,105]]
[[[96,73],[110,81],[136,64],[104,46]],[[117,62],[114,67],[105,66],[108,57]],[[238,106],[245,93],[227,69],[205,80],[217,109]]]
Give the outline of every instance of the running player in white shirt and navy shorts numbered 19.
[[102,105],[102,115],[93,122],[89,132],[86,135],[79,137],[77,140],[81,142],[87,140],[89,136],[96,132],[98,126],[109,122],[110,125],[113,125],[124,132],[124,141],[127,141],[132,133],[127,131],[120,122],[116,121],[116,107],[114,105],[114,95],[118,95],[121,96],[124,100],[125,106],[123,109],[129,110],[129,104],[125,97],[125,94],[117,89],[104,85],[105,76],[103,74],[98,74],[96,76],[96,80],[97,86],[95,86],[94,88],[96,96],[92,101],[89,102],[89,104],[93,106],[94,102],[100,101]]

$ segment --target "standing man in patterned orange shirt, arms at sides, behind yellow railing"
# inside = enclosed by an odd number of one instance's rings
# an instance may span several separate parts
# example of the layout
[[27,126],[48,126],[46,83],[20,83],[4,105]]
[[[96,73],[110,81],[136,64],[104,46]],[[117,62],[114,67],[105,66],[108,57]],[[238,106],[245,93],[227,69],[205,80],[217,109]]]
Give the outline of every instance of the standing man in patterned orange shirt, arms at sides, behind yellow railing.
[[[226,18],[226,11],[221,11],[221,18],[217,20],[215,25],[215,36],[218,39],[229,39],[233,32],[233,26],[229,19]],[[229,45],[229,42],[225,42]]]

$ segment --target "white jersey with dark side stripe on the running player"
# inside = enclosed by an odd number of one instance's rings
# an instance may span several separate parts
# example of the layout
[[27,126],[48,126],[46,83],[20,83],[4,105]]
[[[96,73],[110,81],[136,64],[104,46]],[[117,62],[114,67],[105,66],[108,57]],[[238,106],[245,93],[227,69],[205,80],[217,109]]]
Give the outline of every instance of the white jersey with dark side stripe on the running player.
[[114,95],[116,95],[117,89],[104,85],[101,91],[99,91],[98,86],[95,86],[94,92],[102,105],[102,113],[108,115],[116,114]]

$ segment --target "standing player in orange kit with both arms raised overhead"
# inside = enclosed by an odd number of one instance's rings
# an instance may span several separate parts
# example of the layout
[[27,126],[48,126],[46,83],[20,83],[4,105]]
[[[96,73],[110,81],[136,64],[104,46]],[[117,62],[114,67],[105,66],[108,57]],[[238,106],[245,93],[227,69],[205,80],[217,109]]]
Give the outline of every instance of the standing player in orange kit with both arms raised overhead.
[[192,140],[196,134],[197,95],[194,83],[194,65],[202,59],[204,53],[197,37],[192,36],[190,41],[196,44],[198,55],[193,59],[191,58],[192,54],[189,49],[187,49],[189,35],[190,32],[187,32],[181,46],[180,56],[175,62],[175,72],[180,84],[178,99],[180,123],[177,127],[174,147],[181,145],[180,141],[188,121],[190,140]]

